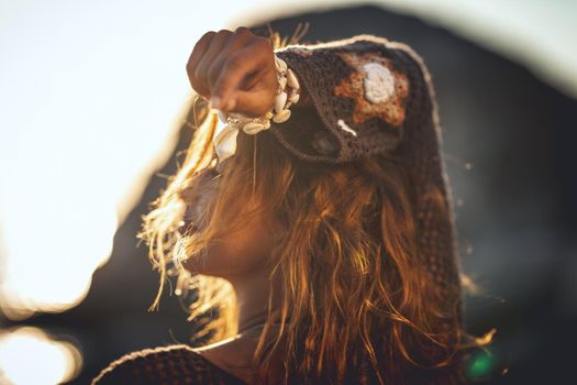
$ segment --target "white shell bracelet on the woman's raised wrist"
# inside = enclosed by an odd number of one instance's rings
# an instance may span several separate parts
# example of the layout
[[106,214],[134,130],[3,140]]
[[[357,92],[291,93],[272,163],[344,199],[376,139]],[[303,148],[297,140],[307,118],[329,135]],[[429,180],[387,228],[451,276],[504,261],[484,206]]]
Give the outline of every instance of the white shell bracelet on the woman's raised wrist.
[[214,133],[214,148],[219,162],[236,153],[236,136],[238,131],[254,135],[270,128],[270,120],[275,123],[286,122],[290,118],[290,106],[297,103],[300,97],[300,85],[292,69],[287,63],[275,54],[275,68],[277,70],[278,87],[275,103],[264,116],[249,118],[241,113],[219,112],[219,118],[224,125],[218,125]]

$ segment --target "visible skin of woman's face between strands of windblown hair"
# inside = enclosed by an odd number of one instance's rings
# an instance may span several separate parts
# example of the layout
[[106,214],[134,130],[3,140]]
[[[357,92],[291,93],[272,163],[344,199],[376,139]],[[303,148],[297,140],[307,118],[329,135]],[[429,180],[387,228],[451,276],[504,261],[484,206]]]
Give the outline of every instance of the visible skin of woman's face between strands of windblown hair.
[[[195,185],[187,189],[184,197],[187,202],[185,222],[192,227],[192,231],[203,229],[201,213],[211,207],[220,188],[220,167],[208,168],[199,175]],[[225,188],[225,186],[223,186]],[[238,197],[238,204],[246,209],[258,201]],[[238,212],[243,212],[241,209]],[[184,266],[192,274],[218,276],[225,279],[235,276],[252,274],[255,270],[266,268],[270,262],[271,250],[275,244],[276,226],[269,218],[263,216],[252,218],[243,227],[223,237],[221,241],[209,244],[206,253],[197,258],[189,258]]]

